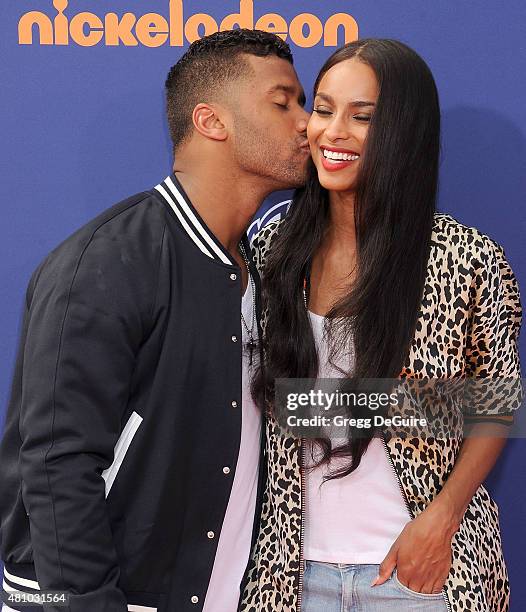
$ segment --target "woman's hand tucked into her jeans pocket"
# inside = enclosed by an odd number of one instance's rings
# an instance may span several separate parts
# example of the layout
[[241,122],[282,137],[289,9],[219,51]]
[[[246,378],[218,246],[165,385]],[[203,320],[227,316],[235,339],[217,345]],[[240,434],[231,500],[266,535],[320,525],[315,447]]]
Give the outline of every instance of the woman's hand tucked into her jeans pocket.
[[[445,493],[445,491],[443,491]],[[438,593],[451,567],[451,540],[459,520],[440,496],[408,523],[380,564],[371,586],[383,584],[397,568],[400,582],[418,593]]]

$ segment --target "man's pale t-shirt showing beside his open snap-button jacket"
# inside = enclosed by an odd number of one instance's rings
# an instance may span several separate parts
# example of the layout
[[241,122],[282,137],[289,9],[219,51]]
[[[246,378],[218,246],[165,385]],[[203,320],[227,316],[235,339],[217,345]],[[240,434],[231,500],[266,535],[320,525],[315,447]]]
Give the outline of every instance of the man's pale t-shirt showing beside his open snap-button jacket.
[[[250,327],[253,312],[250,282],[243,295],[241,308],[245,321]],[[243,346],[245,346],[248,335],[244,325],[242,329]],[[256,321],[253,329],[254,338],[257,338]],[[256,359],[257,351],[254,351],[253,360]],[[231,472],[234,482],[217,544],[204,612],[236,612],[239,604],[239,587],[250,555],[261,440],[261,413],[250,395],[250,370],[249,353],[246,348],[243,351],[242,366],[241,445],[235,473],[233,469]]]

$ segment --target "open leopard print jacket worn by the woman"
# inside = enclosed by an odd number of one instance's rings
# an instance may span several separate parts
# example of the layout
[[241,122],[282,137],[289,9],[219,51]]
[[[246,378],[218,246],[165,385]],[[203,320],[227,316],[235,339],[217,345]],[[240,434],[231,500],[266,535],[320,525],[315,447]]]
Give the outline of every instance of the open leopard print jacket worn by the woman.
[[[278,226],[279,222],[267,225],[254,241],[263,276],[265,255]],[[502,248],[451,216],[436,214],[421,309],[401,376],[448,379],[464,373],[518,379],[520,322],[518,286]],[[513,408],[519,404],[520,400]],[[444,411],[442,418],[452,432],[449,436],[419,437],[417,432],[414,437],[386,440],[388,458],[413,517],[440,492],[462,443],[459,411]],[[241,612],[301,608],[301,448],[299,439],[284,435],[276,420],[268,419],[268,475]],[[473,496],[453,538],[443,595],[452,612],[509,609],[498,508],[484,486]]]

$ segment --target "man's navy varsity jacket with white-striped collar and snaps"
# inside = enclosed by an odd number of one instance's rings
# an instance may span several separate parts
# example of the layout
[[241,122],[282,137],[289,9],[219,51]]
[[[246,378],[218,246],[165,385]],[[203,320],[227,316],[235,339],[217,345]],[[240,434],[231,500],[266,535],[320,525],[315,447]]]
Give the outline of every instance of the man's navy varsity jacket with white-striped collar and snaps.
[[240,309],[240,269],[175,175],[38,267],[0,445],[4,588],[69,594],[46,611],[202,609],[239,452]]

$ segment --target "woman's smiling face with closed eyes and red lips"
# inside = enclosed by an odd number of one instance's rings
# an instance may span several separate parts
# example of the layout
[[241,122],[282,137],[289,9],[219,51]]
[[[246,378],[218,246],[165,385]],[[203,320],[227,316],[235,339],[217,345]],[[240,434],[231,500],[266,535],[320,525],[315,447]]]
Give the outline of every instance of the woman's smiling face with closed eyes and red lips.
[[325,189],[354,191],[377,99],[372,68],[355,58],[336,64],[320,81],[307,135]]

